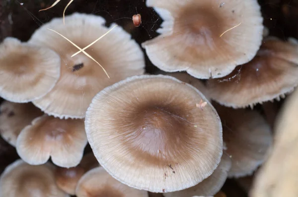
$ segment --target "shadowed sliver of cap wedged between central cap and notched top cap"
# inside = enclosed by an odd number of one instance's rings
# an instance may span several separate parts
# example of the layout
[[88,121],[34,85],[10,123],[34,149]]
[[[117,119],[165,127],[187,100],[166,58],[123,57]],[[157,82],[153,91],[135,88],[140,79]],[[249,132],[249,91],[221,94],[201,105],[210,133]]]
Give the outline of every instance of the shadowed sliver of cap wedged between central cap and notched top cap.
[[186,72],[175,72],[175,73],[168,73],[167,75],[175,77],[176,79],[188,83],[198,89],[209,101],[211,101],[210,97],[208,96],[208,89],[206,88],[205,84],[197,79],[192,77],[191,75],[187,74]]

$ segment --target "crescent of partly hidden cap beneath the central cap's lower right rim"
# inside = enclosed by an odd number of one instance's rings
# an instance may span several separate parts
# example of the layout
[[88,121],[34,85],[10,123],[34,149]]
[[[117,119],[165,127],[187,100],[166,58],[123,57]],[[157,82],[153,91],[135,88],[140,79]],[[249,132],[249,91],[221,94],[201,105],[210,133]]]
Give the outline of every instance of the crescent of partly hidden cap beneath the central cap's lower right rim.
[[222,160],[216,170],[207,179],[198,185],[180,190],[177,192],[164,193],[165,197],[193,197],[194,195],[213,196],[220,191],[227,178],[227,173],[231,168],[231,159],[227,154],[223,154]]

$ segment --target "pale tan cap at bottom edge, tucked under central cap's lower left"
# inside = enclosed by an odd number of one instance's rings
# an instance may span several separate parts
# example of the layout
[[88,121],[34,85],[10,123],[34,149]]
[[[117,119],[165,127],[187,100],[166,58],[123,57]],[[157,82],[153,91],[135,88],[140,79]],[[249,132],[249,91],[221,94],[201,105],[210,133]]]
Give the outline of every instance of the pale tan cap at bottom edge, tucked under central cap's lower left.
[[130,188],[114,179],[103,167],[82,176],[76,187],[77,197],[148,197],[148,192]]

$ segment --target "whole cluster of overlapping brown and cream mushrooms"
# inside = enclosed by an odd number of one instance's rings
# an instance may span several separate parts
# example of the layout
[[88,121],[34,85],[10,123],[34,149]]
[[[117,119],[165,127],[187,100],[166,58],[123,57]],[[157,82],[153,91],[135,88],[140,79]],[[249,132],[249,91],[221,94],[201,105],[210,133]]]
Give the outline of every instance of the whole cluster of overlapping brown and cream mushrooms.
[[163,19],[141,44],[151,75],[131,35],[92,14],[0,44],[0,135],[20,156],[0,197],[223,197],[265,161],[259,109],[298,86],[298,42],[268,36],[257,0],[147,5]]

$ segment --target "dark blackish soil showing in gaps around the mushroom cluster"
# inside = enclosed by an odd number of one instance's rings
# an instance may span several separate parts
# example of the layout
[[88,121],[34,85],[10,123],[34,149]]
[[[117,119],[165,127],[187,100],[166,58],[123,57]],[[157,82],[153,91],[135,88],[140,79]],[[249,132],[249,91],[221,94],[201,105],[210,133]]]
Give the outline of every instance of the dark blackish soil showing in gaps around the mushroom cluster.
[[[6,37],[27,41],[43,23],[54,17],[61,17],[69,0],[61,0],[55,7],[39,12],[39,9],[46,8],[53,2],[54,0],[1,0],[0,42]],[[264,24],[269,28],[270,35],[284,40],[288,37],[298,38],[298,0],[259,0],[259,3]],[[146,0],[74,0],[66,14],[73,12],[101,15],[106,19],[107,25],[116,22],[130,32],[139,44],[157,36],[155,30],[162,22],[154,10],[146,6]],[[135,27],[132,16],[138,13],[142,16],[142,24]],[[148,73],[157,71],[148,57],[146,65]],[[280,104],[277,106],[280,108]],[[15,148],[0,139],[0,173],[17,158]],[[226,181],[223,191],[227,197],[247,195],[233,180]]]

